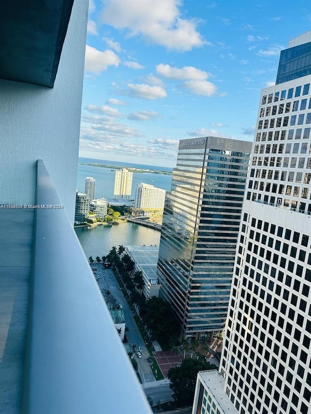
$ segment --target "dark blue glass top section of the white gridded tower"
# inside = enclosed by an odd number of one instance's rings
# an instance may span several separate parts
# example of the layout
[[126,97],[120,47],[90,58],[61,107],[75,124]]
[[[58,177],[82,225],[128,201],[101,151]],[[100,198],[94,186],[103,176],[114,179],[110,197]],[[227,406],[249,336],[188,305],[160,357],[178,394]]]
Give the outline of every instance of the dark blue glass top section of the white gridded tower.
[[311,42],[281,51],[276,84],[311,74]]

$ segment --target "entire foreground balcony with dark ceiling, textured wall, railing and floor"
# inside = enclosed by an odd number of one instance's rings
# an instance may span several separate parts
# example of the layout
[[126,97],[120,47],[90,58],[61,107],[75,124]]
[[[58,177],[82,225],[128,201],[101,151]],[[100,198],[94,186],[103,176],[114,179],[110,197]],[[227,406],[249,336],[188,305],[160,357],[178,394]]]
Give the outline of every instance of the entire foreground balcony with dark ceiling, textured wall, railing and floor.
[[1,7],[1,413],[151,413],[72,226],[87,10]]

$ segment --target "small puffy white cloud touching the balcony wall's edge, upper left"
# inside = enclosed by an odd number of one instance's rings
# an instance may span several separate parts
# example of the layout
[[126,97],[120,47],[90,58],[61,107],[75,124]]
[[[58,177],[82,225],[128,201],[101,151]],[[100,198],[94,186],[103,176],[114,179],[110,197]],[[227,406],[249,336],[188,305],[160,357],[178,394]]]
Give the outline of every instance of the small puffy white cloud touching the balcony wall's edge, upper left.
[[119,66],[120,62],[120,58],[112,50],[101,52],[86,45],[85,70],[87,72],[100,75],[108,66]]

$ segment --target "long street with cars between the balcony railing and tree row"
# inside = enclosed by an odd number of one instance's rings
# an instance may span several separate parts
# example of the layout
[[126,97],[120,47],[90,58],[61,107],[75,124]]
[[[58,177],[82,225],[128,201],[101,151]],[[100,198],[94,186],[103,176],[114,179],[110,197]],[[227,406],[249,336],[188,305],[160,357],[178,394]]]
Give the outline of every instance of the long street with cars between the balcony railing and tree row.
[[155,381],[155,377],[147,361],[149,352],[147,348],[145,347],[145,343],[138,331],[137,325],[133,318],[132,311],[129,305],[127,304],[126,299],[124,298],[122,294],[122,291],[118,285],[118,282],[116,281],[116,278],[113,274],[112,269],[106,269],[101,264],[99,265],[92,264],[92,267],[98,269],[96,272],[96,276],[97,275],[100,276],[100,279],[98,281],[98,285],[100,289],[102,291],[110,290],[111,295],[116,299],[116,304],[121,304],[123,308],[125,324],[126,324],[126,327],[129,329],[129,331],[126,332],[126,337],[128,339],[128,342],[130,344],[135,344],[137,346],[137,350],[138,350],[138,347],[140,347],[142,358],[138,358],[137,355],[135,355],[135,358],[138,362],[138,372],[139,372],[141,381],[143,383]]

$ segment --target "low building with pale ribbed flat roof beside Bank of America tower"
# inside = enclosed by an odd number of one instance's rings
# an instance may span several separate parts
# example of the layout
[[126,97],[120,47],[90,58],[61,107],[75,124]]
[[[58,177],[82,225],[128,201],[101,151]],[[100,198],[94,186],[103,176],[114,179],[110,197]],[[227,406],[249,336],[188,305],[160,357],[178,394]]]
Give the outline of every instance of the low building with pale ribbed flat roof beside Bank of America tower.
[[156,272],[159,255],[158,246],[125,246],[124,254],[128,254],[134,262],[135,272],[141,272],[144,281],[141,293],[146,299],[159,296],[160,285]]

